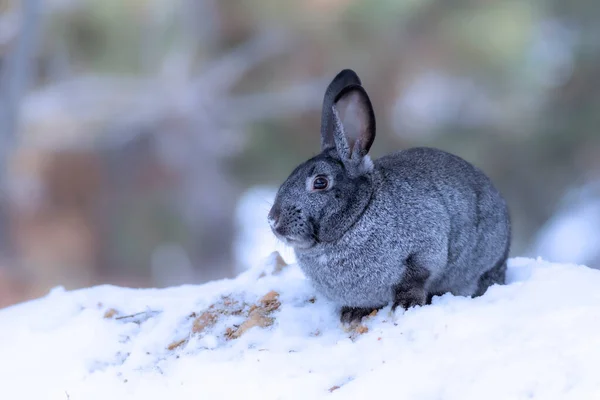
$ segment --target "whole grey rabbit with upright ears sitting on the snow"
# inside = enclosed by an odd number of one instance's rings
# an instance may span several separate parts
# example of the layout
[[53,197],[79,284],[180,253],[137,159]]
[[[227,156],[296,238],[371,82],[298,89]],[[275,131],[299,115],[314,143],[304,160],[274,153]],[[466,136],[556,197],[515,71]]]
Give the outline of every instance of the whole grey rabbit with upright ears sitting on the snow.
[[275,236],[339,307],[341,322],[390,303],[394,312],[504,284],[511,222],[490,179],[428,147],[373,161],[374,139],[369,96],[345,69],[325,92],[321,153],[294,169],[268,213]]

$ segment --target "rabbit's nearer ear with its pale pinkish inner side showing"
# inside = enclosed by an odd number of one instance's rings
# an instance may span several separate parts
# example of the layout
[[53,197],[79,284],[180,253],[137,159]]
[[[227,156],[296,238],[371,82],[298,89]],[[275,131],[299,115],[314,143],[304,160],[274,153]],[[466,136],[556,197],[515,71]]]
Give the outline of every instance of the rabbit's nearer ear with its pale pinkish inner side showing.
[[345,87],[332,113],[338,156],[344,163],[360,164],[375,140],[375,113],[367,92],[359,85]]

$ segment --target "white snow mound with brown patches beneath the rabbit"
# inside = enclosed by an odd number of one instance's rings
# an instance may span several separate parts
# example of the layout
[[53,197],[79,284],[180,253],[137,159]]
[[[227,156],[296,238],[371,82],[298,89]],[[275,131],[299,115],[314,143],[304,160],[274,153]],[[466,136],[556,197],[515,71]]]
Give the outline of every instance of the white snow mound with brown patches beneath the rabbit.
[[600,399],[600,271],[513,259],[509,278],[353,330],[296,266],[56,289],[0,311],[0,399]]

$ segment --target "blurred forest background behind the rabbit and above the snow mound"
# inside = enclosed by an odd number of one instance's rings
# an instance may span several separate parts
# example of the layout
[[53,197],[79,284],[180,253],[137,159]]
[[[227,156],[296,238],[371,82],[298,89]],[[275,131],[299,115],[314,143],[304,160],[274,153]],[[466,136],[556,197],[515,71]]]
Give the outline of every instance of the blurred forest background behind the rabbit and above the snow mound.
[[595,0],[0,0],[0,307],[268,254],[343,68],[374,157],[456,153],[506,196],[512,256],[600,267]]

